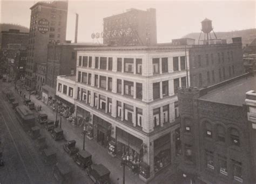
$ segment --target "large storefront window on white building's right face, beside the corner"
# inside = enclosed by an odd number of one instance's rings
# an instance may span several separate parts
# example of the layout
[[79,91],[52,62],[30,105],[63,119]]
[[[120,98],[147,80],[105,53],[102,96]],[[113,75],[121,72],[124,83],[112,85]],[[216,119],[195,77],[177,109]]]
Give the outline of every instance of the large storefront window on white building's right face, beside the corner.
[[171,163],[171,134],[154,140],[154,172]]

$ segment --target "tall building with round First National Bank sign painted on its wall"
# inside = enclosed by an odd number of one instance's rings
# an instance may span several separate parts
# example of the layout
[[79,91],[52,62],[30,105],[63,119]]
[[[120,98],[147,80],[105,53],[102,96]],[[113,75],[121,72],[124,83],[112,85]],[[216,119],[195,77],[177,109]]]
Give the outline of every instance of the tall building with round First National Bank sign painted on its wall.
[[48,44],[63,43],[66,38],[68,1],[38,2],[30,9],[29,52],[25,77],[26,85],[31,90],[36,90],[36,65],[46,63]]

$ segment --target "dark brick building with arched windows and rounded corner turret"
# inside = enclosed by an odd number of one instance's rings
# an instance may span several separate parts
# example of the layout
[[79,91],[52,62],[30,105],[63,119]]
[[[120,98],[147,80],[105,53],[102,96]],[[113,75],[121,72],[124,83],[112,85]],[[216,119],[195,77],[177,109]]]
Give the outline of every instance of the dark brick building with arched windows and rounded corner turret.
[[180,168],[196,183],[255,183],[256,98],[250,90],[256,78],[248,74],[179,90]]

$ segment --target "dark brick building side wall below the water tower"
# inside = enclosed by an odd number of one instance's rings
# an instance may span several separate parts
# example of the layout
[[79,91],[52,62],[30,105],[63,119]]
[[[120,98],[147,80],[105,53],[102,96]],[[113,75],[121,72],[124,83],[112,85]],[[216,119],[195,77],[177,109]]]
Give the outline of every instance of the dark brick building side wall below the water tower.
[[232,44],[191,45],[191,86],[211,86],[245,72],[241,38],[238,41],[232,39]]

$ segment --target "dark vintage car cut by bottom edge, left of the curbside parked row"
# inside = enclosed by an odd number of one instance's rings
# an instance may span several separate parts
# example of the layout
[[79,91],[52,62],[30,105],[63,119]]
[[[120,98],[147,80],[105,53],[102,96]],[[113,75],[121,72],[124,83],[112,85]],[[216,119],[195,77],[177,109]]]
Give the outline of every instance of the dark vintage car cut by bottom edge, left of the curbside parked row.
[[72,183],[72,172],[66,163],[56,163],[53,166],[53,176],[59,184]]

